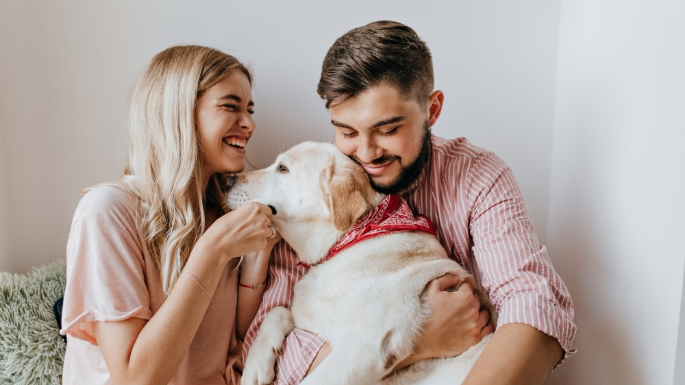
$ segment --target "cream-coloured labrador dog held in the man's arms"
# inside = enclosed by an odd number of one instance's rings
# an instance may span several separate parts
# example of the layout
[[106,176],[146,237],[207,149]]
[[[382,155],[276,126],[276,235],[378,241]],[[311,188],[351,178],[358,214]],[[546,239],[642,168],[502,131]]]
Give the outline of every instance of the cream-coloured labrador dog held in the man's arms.
[[295,287],[290,310],[278,307],[266,314],[247,356],[242,384],[273,381],[277,351],[294,327],[318,334],[332,347],[301,384],[462,382],[491,335],[456,358],[423,360],[386,377],[412,353],[430,311],[424,288],[440,275],[449,272],[469,282],[496,324],[488,298],[471,275],[447,258],[434,235],[389,232],[327,259],[329,249],[385,201],[361,166],[334,145],[304,142],[266,169],[229,177],[229,184],[229,207],[249,201],[274,206],[278,232],[299,260],[311,266]]

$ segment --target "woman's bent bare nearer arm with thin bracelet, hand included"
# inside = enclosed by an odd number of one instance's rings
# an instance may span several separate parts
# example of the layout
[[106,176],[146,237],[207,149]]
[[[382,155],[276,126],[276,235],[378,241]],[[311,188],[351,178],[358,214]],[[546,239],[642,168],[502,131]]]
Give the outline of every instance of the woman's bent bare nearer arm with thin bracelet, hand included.
[[269,208],[253,203],[212,224],[192,249],[169,297],[149,321],[94,323],[95,339],[114,384],[169,382],[188,353],[225,265],[266,247],[270,215]]

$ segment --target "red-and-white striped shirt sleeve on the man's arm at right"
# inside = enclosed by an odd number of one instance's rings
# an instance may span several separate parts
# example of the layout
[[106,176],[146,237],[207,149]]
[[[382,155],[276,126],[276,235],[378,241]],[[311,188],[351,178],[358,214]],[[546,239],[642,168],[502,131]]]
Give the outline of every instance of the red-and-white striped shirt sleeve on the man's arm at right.
[[564,358],[570,357],[576,330],[571,294],[538,241],[519,184],[499,158],[479,166],[486,171],[473,183],[481,192],[471,216],[473,253],[499,312],[498,326],[531,325],[556,338]]

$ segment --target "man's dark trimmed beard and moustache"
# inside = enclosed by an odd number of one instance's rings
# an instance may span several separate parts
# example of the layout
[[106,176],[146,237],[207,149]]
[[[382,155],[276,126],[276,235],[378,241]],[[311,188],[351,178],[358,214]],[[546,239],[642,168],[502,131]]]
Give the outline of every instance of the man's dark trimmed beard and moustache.
[[[399,175],[397,175],[395,180],[393,180],[389,184],[376,184],[375,182],[373,182],[373,178],[370,178],[371,186],[373,186],[374,190],[376,190],[377,192],[381,192],[382,194],[394,194],[395,192],[401,192],[408,188],[416,180],[416,178],[418,178],[419,175],[421,175],[421,170],[423,170],[423,166],[425,166],[428,160],[428,156],[430,154],[430,127],[428,127],[427,120],[425,121],[423,126],[424,127],[423,138],[421,138],[421,150],[419,151],[419,155],[416,156],[416,159],[414,159],[413,162],[406,166],[400,166]],[[356,156],[351,156],[350,158],[356,160],[357,162],[360,162],[360,160]],[[374,159],[373,162],[371,162],[370,164],[387,164],[391,160],[397,160],[397,162],[400,162],[401,158],[396,155],[382,156],[381,158]]]

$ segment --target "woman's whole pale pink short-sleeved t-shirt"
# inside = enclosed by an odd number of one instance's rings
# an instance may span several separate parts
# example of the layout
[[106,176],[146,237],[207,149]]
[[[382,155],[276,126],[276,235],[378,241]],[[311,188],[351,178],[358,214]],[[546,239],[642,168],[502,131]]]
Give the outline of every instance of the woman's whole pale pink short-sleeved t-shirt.
[[[140,201],[121,188],[98,186],[79,202],[66,247],[60,330],[69,341],[64,384],[110,384],[92,322],[148,320],[166,299],[160,272],[143,241],[141,221]],[[214,293],[214,307],[208,308],[169,384],[240,382],[242,343],[234,332],[238,261],[234,261],[226,266]]]

